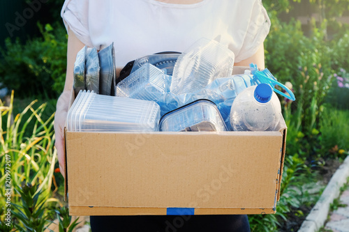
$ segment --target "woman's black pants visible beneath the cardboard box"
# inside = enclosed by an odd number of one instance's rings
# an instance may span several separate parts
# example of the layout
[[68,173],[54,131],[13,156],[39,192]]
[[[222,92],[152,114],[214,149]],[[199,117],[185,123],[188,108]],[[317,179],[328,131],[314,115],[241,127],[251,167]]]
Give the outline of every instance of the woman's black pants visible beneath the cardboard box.
[[91,231],[249,232],[247,215],[91,216]]

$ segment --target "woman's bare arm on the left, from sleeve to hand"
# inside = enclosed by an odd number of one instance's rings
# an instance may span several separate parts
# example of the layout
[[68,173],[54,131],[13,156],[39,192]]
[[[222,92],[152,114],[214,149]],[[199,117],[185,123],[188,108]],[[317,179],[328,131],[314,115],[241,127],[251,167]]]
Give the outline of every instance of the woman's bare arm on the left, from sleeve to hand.
[[[84,44],[75,36],[73,31],[68,31],[68,48],[67,48],[67,68],[66,83],[64,91],[59,96],[54,115],[54,133],[56,142],[54,146],[57,148],[57,156],[59,162],[59,170],[64,176],[64,126],[66,124],[66,114],[68,113],[68,104],[71,90],[73,88],[73,70],[77,52],[84,47]],[[65,176],[64,176],[65,178]]]

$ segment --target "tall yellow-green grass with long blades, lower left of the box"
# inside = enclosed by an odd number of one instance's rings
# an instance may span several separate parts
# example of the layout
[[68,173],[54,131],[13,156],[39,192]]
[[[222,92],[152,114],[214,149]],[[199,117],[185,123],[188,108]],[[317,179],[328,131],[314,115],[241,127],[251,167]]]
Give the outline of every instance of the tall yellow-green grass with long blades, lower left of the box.
[[[11,199],[10,206],[0,201],[0,212],[10,208],[17,230],[31,231],[30,227],[40,231],[43,224],[50,224],[47,219],[52,213],[48,208],[61,204],[52,198],[56,192],[52,192],[52,178],[57,163],[54,114],[43,120],[46,104],[37,106],[34,100],[13,118],[13,99],[12,94],[8,107],[0,101],[0,185],[10,191]],[[31,132],[26,136],[29,128]],[[6,179],[9,176],[10,180]],[[0,198],[5,199],[6,193],[1,189]],[[0,221],[5,222],[4,219],[1,213]]]

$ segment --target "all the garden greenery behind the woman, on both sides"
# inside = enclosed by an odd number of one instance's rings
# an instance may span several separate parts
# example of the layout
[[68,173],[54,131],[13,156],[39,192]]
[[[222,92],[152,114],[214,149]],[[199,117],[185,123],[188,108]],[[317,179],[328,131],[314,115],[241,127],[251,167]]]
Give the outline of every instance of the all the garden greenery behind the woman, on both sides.
[[[297,231],[322,192],[324,176],[348,155],[349,0],[262,2],[272,21],[265,41],[266,67],[279,82],[289,82],[296,101],[280,97],[288,137],[276,214],[249,219],[252,231]],[[1,25],[13,23],[15,11],[21,13],[28,3],[6,1],[0,15],[8,17]],[[3,93],[15,90],[15,98],[0,105],[0,185],[5,184],[7,154],[15,224],[2,224],[6,207],[0,201],[1,231],[40,231],[52,222],[64,231],[68,224],[70,229],[76,226],[64,208],[64,180],[54,172],[53,115],[66,72],[67,35],[59,16],[63,3],[48,0],[20,30],[6,36],[3,29],[0,36],[1,100]],[[4,194],[0,190],[1,198]]]

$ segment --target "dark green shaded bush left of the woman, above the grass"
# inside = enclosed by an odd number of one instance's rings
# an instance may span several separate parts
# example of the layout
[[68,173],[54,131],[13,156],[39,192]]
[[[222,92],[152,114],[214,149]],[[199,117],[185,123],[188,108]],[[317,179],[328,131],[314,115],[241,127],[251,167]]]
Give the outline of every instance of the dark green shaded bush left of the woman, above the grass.
[[0,82],[20,97],[57,98],[64,87],[66,31],[58,25],[55,30],[50,24],[45,29],[41,24],[38,27],[43,37],[27,40],[24,45],[19,39],[6,39],[6,49],[1,49]]

